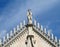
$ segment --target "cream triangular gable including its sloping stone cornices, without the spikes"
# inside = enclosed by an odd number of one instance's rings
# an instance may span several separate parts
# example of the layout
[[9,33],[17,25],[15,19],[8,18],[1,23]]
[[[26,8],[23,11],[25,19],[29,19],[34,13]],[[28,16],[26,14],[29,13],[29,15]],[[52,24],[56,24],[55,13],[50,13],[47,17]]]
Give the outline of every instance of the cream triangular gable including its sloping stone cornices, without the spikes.
[[[29,32],[28,32],[29,31]],[[4,47],[26,47],[25,44],[26,38],[29,35],[33,35],[34,39],[32,40],[33,45],[35,47],[57,47],[58,44],[55,44],[50,38],[45,36],[44,32],[38,29],[36,26],[32,25],[32,27],[23,27],[20,32],[16,34],[8,43],[4,45]],[[30,40],[27,40],[28,43]],[[31,45],[29,43],[29,45]]]

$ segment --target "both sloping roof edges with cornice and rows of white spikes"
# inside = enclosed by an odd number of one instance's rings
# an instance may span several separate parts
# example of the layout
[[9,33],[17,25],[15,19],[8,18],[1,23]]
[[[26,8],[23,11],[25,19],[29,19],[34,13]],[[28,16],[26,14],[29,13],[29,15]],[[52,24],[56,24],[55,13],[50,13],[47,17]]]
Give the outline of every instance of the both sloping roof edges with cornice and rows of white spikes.
[[0,44],[2,44],[2,46],[7,45],[11,41],[13,41],[19,34],[21,34],[21,32],[27,29],[28,26],[32,26],[33,30],[35,30],[35,32],[42,36],[42,38],[44,38],[46,41],[48,41],[55,47],[59,47],[60,41],[57,39],[57,37],[54,37],[54,35],[51,34],[49,31],[47,32],[46,28],[44,28],[39,23],[36,23],[36,20],[34,20],[32,24],[26,24],[24,20],[23,23],[20,23],[20,25],[17,25],[17,27],[13,29],[13,32],[11,31],[10,34],[7,34],[7,37],[5,36],[6,38],[4,37],[3,42],[0,41]]

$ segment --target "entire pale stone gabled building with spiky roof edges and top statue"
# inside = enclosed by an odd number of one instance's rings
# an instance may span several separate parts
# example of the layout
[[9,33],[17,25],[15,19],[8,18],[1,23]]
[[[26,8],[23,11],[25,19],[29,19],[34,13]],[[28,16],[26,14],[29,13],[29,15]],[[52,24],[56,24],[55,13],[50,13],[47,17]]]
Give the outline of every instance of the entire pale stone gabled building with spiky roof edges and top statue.
[[0,39],[0,47],[60,47],[60,40],[34,20],[32,12],[27,12],[28,23],[23,21],[10,34]]

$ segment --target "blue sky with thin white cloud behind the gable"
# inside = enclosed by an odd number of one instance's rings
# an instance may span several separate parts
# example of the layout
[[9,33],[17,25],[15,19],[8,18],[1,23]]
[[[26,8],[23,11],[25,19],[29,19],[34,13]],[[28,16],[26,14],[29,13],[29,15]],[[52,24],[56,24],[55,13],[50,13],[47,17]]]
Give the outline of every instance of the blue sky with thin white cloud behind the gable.
[[0,38],[27,20],[28,9],[33,19],[60,38],[60,0],[0,0]]

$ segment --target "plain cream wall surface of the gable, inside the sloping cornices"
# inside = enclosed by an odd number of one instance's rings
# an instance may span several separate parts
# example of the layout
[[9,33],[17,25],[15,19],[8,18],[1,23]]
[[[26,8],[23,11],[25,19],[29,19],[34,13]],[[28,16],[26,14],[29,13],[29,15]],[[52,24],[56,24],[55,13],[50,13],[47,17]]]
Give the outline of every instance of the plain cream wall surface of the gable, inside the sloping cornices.
[[[42,36],[40,36],[37,31],[33,28],[31,30],[31,34],[34,36],[33,39],[33,45],[34,47],[52,47],[48,41],[46,41]],[[28,30],[23,29],[22,32],[20,32],[19,35],[17,35],[13,40],[11,40],[5,47],[26,47],[27,45],[25,44],[26,38],[28,36]],[[27,40],[29,43],[29,40]],[[29,43],[30,44],[30,43]]]

